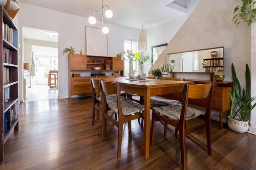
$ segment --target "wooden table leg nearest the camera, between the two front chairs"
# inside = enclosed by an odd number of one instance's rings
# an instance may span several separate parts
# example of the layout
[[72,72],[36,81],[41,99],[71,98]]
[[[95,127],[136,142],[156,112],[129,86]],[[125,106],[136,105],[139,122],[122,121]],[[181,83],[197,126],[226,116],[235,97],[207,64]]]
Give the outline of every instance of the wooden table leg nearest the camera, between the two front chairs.
[[144,157],[150,156],[150,89],[144,90]]

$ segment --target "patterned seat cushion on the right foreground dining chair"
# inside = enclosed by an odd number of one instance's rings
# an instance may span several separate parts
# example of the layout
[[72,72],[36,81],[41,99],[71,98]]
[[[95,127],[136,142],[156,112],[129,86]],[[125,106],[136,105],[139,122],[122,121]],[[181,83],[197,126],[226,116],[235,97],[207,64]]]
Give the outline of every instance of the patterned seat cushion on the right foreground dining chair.
[[[170,104],[167,106],[161,106],[161,107],[154,107],[154,110],[157,111],[159,114],[167,116],[174,120],[180,119],[182,105],[181,104]],[[199,115],[203,114],[200,110],[187,107],[186,110],[186,120],[193,119],[195,117],[198,117]]]

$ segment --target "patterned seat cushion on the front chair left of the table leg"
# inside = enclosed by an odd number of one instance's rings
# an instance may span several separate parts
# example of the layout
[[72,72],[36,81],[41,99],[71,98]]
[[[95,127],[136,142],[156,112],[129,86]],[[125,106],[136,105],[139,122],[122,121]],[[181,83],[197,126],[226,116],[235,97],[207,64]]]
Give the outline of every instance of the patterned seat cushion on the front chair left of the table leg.
[[[140,105],[131,100],[122,101],[121,105],[122,105],[122,112],[123,112],[124,116],[128,116],[128,115],[135,114],[135,113],[140,113],[140,112],[144,111],[143,105]],[[118,113],[116,102],[112,102],[112,103],[108,104],[108,106],[115,113]]]

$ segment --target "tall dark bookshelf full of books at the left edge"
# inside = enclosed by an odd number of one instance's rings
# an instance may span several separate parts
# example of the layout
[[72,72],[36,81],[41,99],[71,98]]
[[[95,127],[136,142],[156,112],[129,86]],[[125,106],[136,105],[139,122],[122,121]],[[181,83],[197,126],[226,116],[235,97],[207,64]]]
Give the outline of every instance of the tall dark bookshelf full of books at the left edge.
[[0,19],[2,27],[0,31],[0,161],[4,160],[4,145],[13,131],[18,130],[18,29],[5,9],[1,7]]

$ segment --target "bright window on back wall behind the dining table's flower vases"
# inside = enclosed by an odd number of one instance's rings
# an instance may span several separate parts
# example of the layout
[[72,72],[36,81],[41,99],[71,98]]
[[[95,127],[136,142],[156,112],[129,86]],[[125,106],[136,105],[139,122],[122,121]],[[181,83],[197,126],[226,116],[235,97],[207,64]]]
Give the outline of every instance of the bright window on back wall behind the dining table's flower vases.
[[[133,53],[138,53],[138,42],[132,40],[123,40],[123,51],[133,50]],[[139,70],[138,62],[133,63],[133,69]],[[138,72],[137,72],[138,74]],[[129,62],[124,60],[124,76],[129,75]]]

